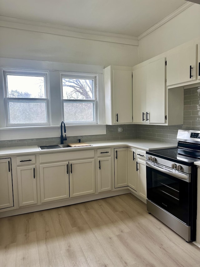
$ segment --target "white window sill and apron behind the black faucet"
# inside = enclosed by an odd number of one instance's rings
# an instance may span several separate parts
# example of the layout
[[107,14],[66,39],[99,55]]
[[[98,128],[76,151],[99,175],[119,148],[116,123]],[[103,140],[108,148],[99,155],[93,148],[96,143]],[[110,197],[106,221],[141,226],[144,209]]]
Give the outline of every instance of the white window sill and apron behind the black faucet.
[[[66,125],[67,136],[106,134],[106,124]],[[0,128],[0,141],[60,137],[60,125]]]

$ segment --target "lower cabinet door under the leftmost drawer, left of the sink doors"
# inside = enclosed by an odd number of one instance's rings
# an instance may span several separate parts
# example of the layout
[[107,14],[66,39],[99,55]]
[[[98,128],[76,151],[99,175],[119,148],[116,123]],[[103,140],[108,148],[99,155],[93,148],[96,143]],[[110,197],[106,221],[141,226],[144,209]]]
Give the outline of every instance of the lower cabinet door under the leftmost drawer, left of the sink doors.
[[19,207],[37,204],[35,169],[35,165],[17,167]]

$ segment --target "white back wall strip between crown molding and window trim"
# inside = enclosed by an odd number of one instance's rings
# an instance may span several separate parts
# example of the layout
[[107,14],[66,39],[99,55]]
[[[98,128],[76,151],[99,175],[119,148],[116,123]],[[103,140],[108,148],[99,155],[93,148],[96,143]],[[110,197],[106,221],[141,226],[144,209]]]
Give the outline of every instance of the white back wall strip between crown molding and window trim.
[[138,46],[0,27],[0,57],[55,62],[134,66]]

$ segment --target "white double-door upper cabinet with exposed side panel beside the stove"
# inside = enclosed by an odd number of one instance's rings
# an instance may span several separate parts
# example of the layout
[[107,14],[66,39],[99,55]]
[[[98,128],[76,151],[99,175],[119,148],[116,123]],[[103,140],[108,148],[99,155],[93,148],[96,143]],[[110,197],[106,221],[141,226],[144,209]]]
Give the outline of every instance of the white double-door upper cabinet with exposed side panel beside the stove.
[[166,90],[166,59],[152,60],[133,67],[133,123],[183,124],[183,88]]

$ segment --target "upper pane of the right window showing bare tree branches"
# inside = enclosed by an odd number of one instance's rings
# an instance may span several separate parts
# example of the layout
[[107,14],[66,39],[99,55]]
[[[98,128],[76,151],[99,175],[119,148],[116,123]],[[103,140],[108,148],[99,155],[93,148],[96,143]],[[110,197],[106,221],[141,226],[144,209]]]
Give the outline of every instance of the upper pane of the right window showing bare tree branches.
[[63,99],[94,99],[94,80],[62,78]]

